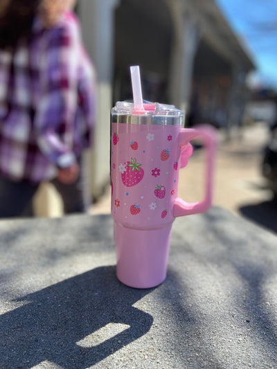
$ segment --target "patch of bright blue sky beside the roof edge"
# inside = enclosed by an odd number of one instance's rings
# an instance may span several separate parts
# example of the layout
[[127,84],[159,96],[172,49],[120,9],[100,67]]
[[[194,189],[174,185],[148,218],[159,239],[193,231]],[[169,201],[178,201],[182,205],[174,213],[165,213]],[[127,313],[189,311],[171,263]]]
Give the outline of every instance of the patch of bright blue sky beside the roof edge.
[[277,89],[277,0],[216,0],[247,44],[258,71],[254,83]]

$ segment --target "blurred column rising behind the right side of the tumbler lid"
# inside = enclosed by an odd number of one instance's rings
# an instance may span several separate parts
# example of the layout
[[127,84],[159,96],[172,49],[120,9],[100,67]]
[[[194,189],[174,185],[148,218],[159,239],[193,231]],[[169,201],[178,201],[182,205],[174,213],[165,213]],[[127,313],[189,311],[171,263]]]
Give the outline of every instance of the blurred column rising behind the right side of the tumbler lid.
[[170,67],[170,100],[179,109],[188,111],[193,64],[199,43],[199,27],[182,8],[180,1],[168,1],[175,27]]

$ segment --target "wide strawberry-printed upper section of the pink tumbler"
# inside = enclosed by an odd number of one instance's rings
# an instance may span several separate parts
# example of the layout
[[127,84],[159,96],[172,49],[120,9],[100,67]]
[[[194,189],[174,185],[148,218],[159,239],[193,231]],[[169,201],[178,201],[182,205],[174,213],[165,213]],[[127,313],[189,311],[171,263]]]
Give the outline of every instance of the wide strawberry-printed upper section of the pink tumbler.
[[[172,224],[181,153],[179,131],[177,126],[112,124],[112,135],[118,134],[118,142],[111,143],[111,215],[115,222],[143,230]],[[132,159],[141,164],[139,170],[128,166]]]

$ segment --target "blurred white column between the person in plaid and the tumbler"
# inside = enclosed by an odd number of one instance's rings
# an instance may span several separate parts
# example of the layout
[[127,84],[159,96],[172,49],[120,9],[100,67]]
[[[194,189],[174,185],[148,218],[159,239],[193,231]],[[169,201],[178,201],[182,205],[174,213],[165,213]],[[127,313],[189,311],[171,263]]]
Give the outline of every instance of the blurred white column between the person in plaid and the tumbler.
[[78,3],[84,44],[97,74],[95,142],[88,160],[91,167],[91,192],[96,197],[101,195],[103,186],[109,182],[109,123],[116,5],[118,0],[82,0]]

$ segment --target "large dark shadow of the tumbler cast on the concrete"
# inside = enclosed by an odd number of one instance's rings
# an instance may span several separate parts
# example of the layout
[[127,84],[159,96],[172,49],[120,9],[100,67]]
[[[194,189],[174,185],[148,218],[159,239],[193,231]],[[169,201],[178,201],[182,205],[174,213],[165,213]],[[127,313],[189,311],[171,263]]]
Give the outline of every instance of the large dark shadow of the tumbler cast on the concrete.
[[[21,298],[26,305],[0,316],[0,368],[87,368],[147,333],[152,316],[132,305],[152,289],[131,289],[115,273],[99,267]],[[109,323],[123,332],[99,334]]]

